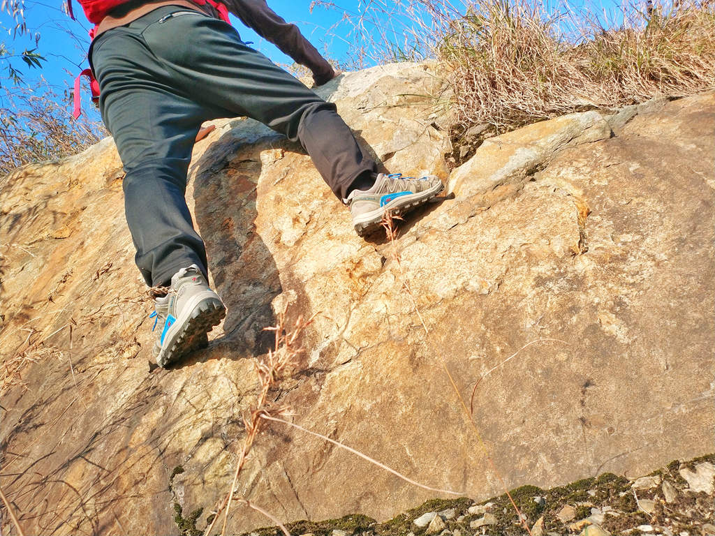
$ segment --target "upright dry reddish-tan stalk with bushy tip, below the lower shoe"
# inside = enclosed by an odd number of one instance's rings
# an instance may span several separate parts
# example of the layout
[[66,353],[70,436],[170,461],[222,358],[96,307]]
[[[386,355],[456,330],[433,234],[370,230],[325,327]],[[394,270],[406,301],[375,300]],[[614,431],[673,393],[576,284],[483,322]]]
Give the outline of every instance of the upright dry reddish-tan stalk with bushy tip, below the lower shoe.
[[[285,309],[283,309],[283,311],[278,314],[277,324],[274,327],[265,328],[267,331],[275,332],[275,344],[274,347],[270,349],[270,351],[263,359],[255,359],[253,362],[256,374],[258,376],[258,382],[260,384],[260,392],[258,394],[257,402],[250,412],[250,416],[244,417],[243,419],[243,423],[246,428],[246,437],[244,438],[241,452],[238,457],[238,463],[236,465],[236,470],[233,475],[231,489],[228,492],[226,498],[220,503],[220,505],[218,505],[211,524],[204,532],[206,536],[208,536],[213,530],[216,520],[218,519],[221,512],[224,510],[225,515],[223,526],[221,529],[221,535],[224,536],[226,534],[226,526],[228,523],[229,512],[231,510],[231,504],[232,501],[235,499],[234,493],[238,482],[238,475],[240,475],[240,472],[245,465],[247,455],[250,452],[253,443],[255,442],[258,432],[260,432],[260,428],[262,425],[262,417],[285,415],[288,411],[287,407],[272,407],[268,402],[268,394],[271,389],[277,386],[277,383],[280,381],[280,379],[286,377],[288,374],[290,374],[290,372],[292,372],[293,369],[295,369],[295,367],[297,367],[298,358],[305,352],[305,348],[298,344],[297,341],[300,338],[300,335],[302,334],[303,330],[312,323],[313,319],[315,318],[315,315],[313,315],[312,317],[310,317],[310,319],[307,320],[303,320],[302,317],[298,317],[293,327],[287,330],[285,324],[286,310],[287,305]],[[260,510],[260,508],[256,507],[255,505],[251,505],[250,502],[248,502],[247,500],[239,500],[240,502],[243,502],[244,504],[254,508],[258,512],[262,512],[264,515],[267,515],[266,512]],[[267,515],[267,517],[277,522],[272,516]],[[277,524],[280,525],[281,529],[283,530],[283,532],[285,532],[286,535],[290,536],[285,527],[283,527],[280,522],[277,522]]]

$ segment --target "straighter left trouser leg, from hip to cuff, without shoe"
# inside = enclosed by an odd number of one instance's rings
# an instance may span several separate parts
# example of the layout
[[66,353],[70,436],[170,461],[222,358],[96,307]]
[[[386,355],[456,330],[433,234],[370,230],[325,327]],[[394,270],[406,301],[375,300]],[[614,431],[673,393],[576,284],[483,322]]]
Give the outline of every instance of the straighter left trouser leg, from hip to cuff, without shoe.
[[135,257],[149,286],[167,285],[180,269],[206,273],[204,244],[184,199],[191,151],[205,111],[177,94],[139,31],[101,36],[92,65],[102,118],[124,164],[124,205]]

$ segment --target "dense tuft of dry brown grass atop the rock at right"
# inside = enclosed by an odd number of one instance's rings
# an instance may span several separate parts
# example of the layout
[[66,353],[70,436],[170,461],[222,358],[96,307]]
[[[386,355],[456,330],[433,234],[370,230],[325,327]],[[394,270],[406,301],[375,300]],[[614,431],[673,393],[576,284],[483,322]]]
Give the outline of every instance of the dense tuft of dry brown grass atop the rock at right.
[[497,131],[578,109],[715,88],[715,12],[681,4],[618,26],[589,11],[490,1],[453,21],[438,58],[450,73],[456,119]]

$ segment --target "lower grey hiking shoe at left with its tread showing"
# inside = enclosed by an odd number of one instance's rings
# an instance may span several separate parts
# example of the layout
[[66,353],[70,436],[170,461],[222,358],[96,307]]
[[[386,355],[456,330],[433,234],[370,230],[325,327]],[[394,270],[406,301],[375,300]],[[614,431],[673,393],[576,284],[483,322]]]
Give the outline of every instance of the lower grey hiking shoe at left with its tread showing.
[[[209,289],[204,274],[196,264],[179,270],[172,277],[169,293],[154,300],[154,328],[163,323],[162,334],[154,345],[154,357],[160,367],[208,344],[207,333],[226,316],[226,307],[218,294]],[[153,329],[152,329],[153,331]]]

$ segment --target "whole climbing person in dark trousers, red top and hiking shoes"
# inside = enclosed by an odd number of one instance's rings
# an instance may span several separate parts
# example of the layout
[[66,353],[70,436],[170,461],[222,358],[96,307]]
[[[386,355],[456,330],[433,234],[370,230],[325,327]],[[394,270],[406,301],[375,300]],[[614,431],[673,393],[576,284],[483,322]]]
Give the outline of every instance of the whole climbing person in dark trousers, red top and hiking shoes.
[[207,283],[206,250],[184,199],[192,147],[204,121],[248,116],[300,141],[350,208],[358,234],[379,227],[385,212],[405,212],[443,189],[434,176],[377,173],[335,104],[241,41],[229,11],[307,66],[316,84],[335,76],[265,0],[79,3],[96,24],[89,76],[96,76],[93,93],[99,91],[99,111],[126,172],[124,209],[135,261],[155,291],[154,328],[162,323],[154,347],[160,366],[205,346],[207,333],[226,314]]

